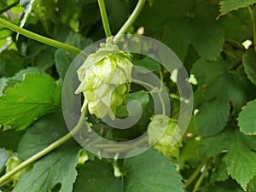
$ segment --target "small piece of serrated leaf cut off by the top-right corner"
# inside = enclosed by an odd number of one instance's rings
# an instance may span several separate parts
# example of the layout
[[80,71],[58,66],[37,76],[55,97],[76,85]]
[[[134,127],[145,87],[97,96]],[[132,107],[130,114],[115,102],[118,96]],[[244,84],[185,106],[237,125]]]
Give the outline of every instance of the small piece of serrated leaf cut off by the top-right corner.
[[220,15],[225,15],[227,13],[229,13],[232,10],[237,10],[240,8],[246,8],[249,5],[253,5],[254,3],[256,3],[256,0],[222,0],[219,3],[220,6]]

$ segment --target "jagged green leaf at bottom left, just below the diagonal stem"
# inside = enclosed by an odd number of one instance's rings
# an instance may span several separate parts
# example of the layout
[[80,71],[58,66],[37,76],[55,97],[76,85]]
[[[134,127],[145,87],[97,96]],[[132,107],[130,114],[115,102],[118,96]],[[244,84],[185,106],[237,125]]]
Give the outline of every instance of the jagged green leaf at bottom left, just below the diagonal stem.
[[23,173],[13,192],[49,192],[58,184],[59,192],[72,192],[78,160],[78,147],[63,146],[38,160],[32,171]]

